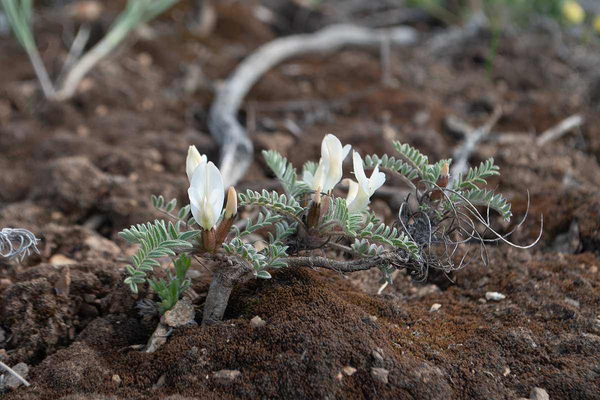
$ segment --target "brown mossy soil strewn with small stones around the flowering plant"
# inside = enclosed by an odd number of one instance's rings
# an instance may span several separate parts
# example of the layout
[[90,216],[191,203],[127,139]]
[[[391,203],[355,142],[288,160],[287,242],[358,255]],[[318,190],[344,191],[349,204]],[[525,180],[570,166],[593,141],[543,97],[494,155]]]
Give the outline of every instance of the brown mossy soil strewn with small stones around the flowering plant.
[[[347,279],[273,272],[235,287],[223,323],[175,330],[153,354],[128,348],[148,341],[156,321],[142,320],[139,297],[122,284],[134,249],[118,232],[162,218],[151,194],[187,204],[189,145],[218,161],[206,126],[212,94],[194,77],[224,79],[282,34],[367,20],[368,10],[351,12],[351,3],[308,13],[302,23],[303,10],[281,2],[281,20],[271,26],[254,19],[255,3],[222,2],[205,38],[185,28],[191,5],[181,4],[151,24],[155,38],[125,44],[64,103],[43,99],[25,52],[14,38],[0,38],[0,228],[41,239],[41,254],[22,263],[0,258],[0,358],[27,363],[31,382],[2,398],[489,400],[528,398],[535,387],[552,400],[600,398],[600,75],[589,62],[598,48],[568,42],[573,56],[565,59],[545,32],[506,33],[487,79],[488,33],[431,53],[427,40],[439,29],[431,19],[415,20],[416,46],[392,50],[399,88],[339,110],[242,113],[256,162],[238,191],[277,188],[262,149],[300,167],[318,160],[327,133],[363,155],[392,155],[396,139],[430,160],[452,157],[460,139],[443,120],[478,126],[501,106],[502,118],[470,161],[494,157],[502,175],[490,187],[511,201],[515,221],[529,191],[529,216],[512,240],[532,242],[543,214],[538,245],[490,245],[488,265],[476,258],[451,274],[454,283],[440,272],[424,283],[401,272],[383,294],[376,294],[378,271]],[[36,38],[56,75],[67,50],[48,11],[40,10],[47,16],[36,21]],[[380,76],[377,52],[293,59],[269,71],[248,104],[337,98]],[[586,118],[581,128],[541,147],[532,141],[576,112]],[[298,136],[286,119],[301,128]],[[392,222],[405,194],[389,193],[371,206]],[[502,232],[515,225],[492,218]],[[57,293],[65,264],[70,290]],[[202,305],[212,275],[197,263],[191,269]],[[506,298],[486,301],[488,291]],[[256,315],[265,326],[251,326]],[[240,373],[228,380],[222,370]]]

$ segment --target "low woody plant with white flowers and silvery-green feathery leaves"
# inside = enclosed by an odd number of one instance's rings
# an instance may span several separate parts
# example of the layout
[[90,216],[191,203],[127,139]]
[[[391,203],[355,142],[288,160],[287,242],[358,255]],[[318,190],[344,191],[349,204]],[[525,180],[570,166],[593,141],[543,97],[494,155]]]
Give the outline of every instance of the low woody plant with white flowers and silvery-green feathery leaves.
[[[319,267],[350,273],[378,268],[383,284],[391,283],[391,273],[396,269],[407,268],[417,278],[425,279],[430,267],[445,271],[460,269],[476,254],[487,261],[487,242],[515,246],[506,239],[508,235],[490,227],[489,219],[493,210],[509,221],[511,204],[501,194],[479,188],[487,183],[486,178],[499,174],[493,159],[470,169],[464,176],[458,175],[449,184],[452,160],[429,164],[427,156],[411,146],[399,142],[393,145],[398,152],[394,157],[371,155],[363,160],[358,152],[352,152],[356,181],[343,180],[348,187],[345,198],[335,196],[333,189],[343,176],[342,163],[350,153],[350,145],[342,146],[334,135],[323,139],[322,158],[319,163],[304,164],[301,176],[286,158],[275,151],[264,151],[266,163],[281,181],[284,193],[263,190],[236,195],[231,187],[224,210],[221,173],[212,162],[207,162],[205,155],[190,146],[187,158],[190,204],[173,213],[175,199],[166,203],[163,196],[152,197],[154,206],[175,223],[148,222],[120,233],[128,241],[141,244],[137,255],[133,255],[133,265],[127,266],[131,276],[125,282],[137,293],[137,285],[146,281],[146,273],[160,266],[155,258],[178,253],[179,258],[173,261],[175,276],[167,271],[169,282],[148,279],[163,300],[159,306],[165,312],[190,287],[185,273],[191,257],[218,261],[203,311],[203,324],[212,324],[223,317],[229,294],[239,279],[245,276],[269,279],[269,269]],[[370,177],[365,169],[372,170]],[[415,204],[410,205],[409,199],[405,199],[392,226],[382,223],[368,209],[370,197],[383,185],[386,174],[402,179],[416,198]],[[260,210],[257,218],[248,218],[242,229],[233,225],[238,206]],[[487,210],[485,216],[478,206]],[[196,225],[198,230],[182,230],[184,226]],[[244,240],[257,230],[267,231],[262,241],[266,246],[260,250]],[[457,251],[462,243],[466,243],[466,251]],[[477,245],[472,255],[468,251],[470,243]],[[340,253],[351,255],[352,260],[329,258]]]

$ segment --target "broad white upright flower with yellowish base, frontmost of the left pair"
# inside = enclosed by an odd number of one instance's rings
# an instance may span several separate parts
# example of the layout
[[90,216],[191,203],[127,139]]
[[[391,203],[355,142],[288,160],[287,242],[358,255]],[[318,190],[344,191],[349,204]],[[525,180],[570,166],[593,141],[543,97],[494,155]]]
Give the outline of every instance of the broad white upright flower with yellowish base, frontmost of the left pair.
[[200,163],[191,177],[190,188],[191,213],[198,224],[211,230],[217,224],[223,209],[225,193],[221,172],[209,161]]

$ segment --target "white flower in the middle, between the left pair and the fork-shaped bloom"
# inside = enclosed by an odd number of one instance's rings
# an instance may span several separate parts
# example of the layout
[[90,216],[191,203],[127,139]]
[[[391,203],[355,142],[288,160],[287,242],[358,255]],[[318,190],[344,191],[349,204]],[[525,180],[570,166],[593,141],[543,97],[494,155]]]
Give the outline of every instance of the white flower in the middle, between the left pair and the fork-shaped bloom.
[[319,166],[314,172],[314,176],[305,171],[302,175],[302,180],[311,190],[317,190],[322,187],[323,192],[329,193],[335,185],[340,182],[343,175],[341,164],[344,158],[347,157],[352,146],[341,146],[340,139],[332,134],[328,134],[321,143],[321,159]]

